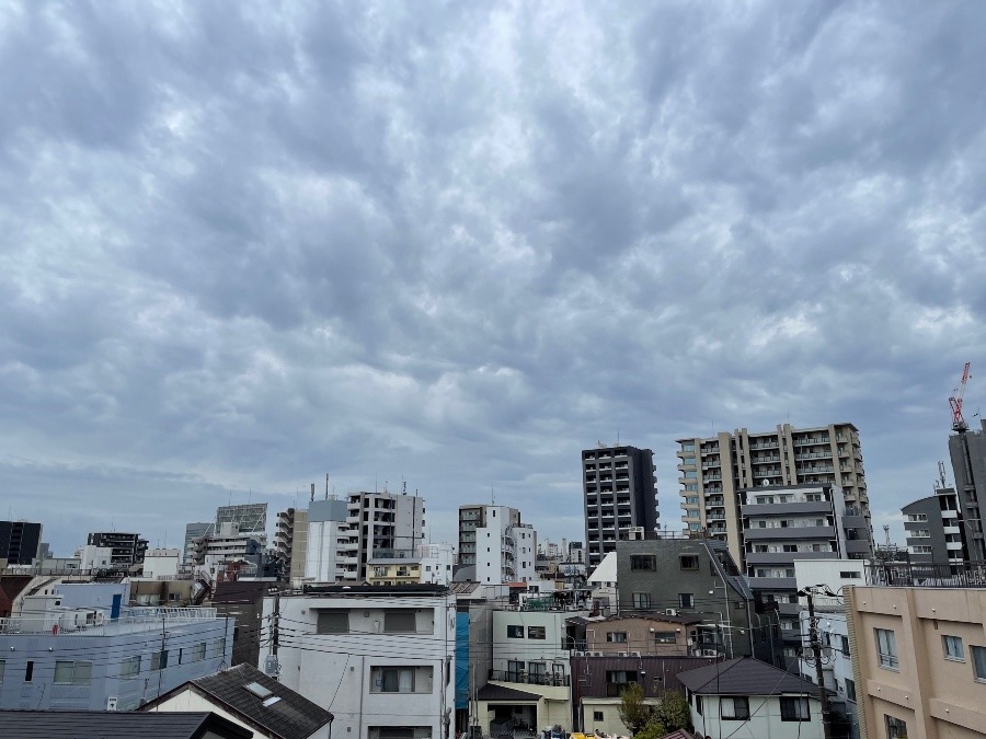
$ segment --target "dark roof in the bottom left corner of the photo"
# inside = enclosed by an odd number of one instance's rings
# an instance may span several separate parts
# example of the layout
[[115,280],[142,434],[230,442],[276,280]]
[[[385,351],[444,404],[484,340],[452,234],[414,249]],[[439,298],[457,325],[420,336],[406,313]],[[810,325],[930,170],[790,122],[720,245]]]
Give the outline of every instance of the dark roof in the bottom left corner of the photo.
[[104,711],[0,711],[18,739],[250,739],[253,732],[214,713],[139,714]]

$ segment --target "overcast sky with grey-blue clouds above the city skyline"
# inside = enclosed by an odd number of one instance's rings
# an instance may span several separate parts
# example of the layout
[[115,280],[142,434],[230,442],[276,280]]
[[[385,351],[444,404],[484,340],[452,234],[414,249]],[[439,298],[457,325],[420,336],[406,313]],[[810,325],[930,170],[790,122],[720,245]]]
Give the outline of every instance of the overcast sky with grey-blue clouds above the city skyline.
[[676,438],[849,422],[897,533],[966,361],[986,404],[984,37],[982,2],[3,2],[0,517],[179,545],[328,474],[405,482],[434,541],[494,498],[581,540],[582,449],[652,449],[677,529]]

